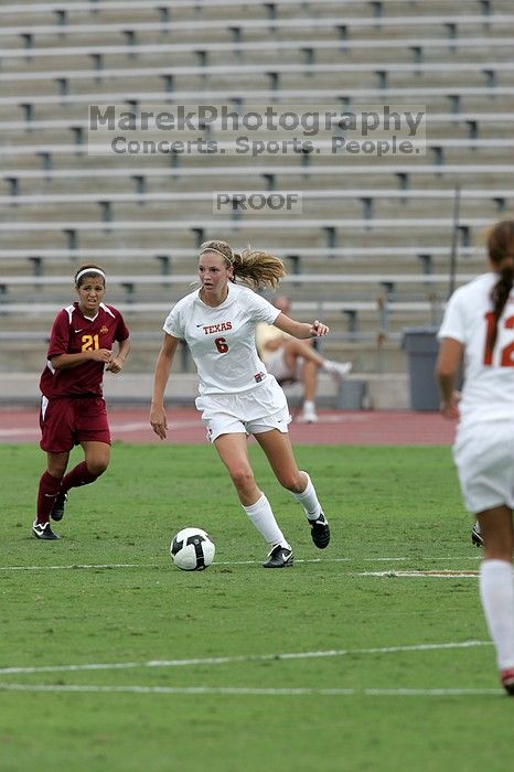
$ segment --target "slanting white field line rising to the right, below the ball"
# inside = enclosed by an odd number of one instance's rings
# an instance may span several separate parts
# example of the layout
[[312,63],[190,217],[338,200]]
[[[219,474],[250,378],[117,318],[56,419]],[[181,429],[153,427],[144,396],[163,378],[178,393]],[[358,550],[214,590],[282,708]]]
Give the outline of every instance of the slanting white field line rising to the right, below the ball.
[[190,660],[150,660],[148,662],[86,663],[83,665],[41,665],[30,667],[1,667],[0,675],[21,673],[72,673],[77,671],[120,671],[146,667],[188,667],[192,665],[233,665],[242,662],[318,660],[366,654],[397,654],[400,652],[430,652],[456,648],[491,646],[490,641],[462,641],[450,643],[420,643],[405,646],[383,646],[375,648],[333,648],[320,652],[285,652],[278,654],[244,654],[238,656],[194,657]]

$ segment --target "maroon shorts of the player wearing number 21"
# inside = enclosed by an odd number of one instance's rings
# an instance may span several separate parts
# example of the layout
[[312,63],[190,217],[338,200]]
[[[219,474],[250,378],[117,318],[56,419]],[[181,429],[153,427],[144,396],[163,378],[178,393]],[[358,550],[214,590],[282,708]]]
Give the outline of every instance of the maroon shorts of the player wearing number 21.
[[110,430],[103,397],[56,397],[41,400],[40,448],[65,453],[81,442],[110,444]]

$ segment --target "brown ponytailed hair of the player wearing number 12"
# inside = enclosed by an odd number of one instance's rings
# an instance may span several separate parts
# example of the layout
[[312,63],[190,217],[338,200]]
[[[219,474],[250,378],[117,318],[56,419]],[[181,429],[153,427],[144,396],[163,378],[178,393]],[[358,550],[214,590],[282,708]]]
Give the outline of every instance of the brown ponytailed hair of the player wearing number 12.
[[494,323],[491,330],[489,346],[494,349],[497,337],[497,323],[514,283],[514,221],[504,219],[489,234],[489,258],[496,268],[499,280],[491,290]]

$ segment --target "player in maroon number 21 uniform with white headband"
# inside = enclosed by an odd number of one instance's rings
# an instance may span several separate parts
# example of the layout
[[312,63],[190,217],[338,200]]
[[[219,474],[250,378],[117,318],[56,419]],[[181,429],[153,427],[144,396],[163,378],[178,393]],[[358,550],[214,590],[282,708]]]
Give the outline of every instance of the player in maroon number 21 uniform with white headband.
[[[82,266],[75,287],[78,301],[55,318],[40,380],[40,446],[46,451],[47,465],[40,480],[32,525],[39,539],[58,538],[50,527],[50,517],[62,519],[69,489],[94,482],[109,464],[104,371],[119,373],[130,349],[121,314],[104,303],[104,270],[92,264]],[[76,444],[84,450],[84,461],[65,475],[69,451]]]

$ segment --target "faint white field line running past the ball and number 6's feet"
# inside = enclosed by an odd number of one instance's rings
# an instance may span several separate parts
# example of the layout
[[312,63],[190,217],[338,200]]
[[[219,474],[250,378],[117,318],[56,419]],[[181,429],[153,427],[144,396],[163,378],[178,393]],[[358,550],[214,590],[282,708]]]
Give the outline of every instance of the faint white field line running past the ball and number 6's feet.
[[[405,562],[407,560],[413,560],[414,558],[408,557],[389,557],[389,558],[360,558],[362,562]],[[474,556],[462,556],[462,557],[447,557],[447,558],[425,558],[427,562],[439,562],[447,560],[480,560],[480,555]],[[296,564],[310,564],[310,562],[351,562],[355,558],[300,558],[295,559]],[[255,566],[259,565],[260,560],[215,560],[213,566]],[[57,566],[0,566],[0,571],[65,571],[72,569],[95,569],[95,568],[163,568],[164,564],[158,562],[100,562],[100,564],[65,564]],[[392,576],[390,571],[378,571],[378,572],[365,572],[362,573],[349,573],[347,576]],[[398,573],[399,576],[399,573]]]

